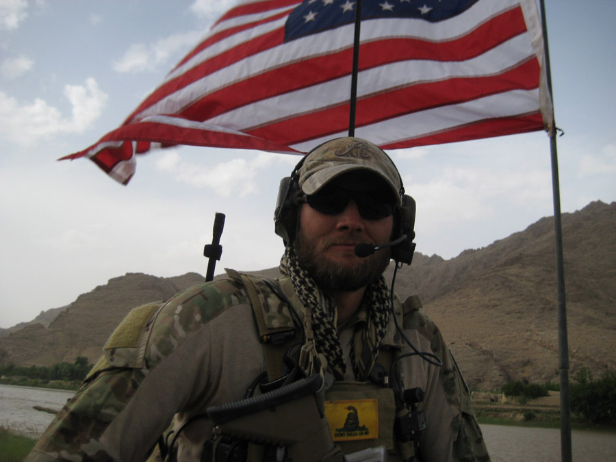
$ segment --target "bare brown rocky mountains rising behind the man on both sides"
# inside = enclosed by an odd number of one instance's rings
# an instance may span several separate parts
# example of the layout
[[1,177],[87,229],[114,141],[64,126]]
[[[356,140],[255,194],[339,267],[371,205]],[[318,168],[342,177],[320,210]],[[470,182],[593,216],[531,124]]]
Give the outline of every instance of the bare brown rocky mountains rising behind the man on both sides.
[[[570,370],[616,370],[616,203],[593,202],[563,214]],[[415,255],[398,270],[400,297],[418,294],[475,389],[509,380],[558,382],[554,220],[444,260]],[[386,272],[391,281],[393,268]],[[257,274],[276,277],[277,268]],[[126,274],[83,294],[48,327],[31,324],[0,338],[0,361],[49,365],[78,355],[97,359],[127,311],[203,281],[198,274]]]

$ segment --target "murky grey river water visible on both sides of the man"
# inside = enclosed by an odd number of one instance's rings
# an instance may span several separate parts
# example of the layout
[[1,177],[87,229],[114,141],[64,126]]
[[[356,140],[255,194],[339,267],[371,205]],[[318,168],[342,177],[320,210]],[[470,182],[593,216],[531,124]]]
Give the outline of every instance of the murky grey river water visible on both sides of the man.
[[[0,385],[0,426],[30,437],[38,437],[53,415],[33,406],[60,409],[73,392]],[[561,431],[552,428],[482,425],[493,462],[561,460]],[[616,433],[572,431],[573,460],[576,462],[616,461]]]

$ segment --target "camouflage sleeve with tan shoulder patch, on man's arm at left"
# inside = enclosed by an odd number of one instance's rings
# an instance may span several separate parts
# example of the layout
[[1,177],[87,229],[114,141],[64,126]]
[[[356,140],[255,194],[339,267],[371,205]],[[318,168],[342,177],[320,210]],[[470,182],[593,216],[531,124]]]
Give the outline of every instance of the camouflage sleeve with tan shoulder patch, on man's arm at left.
[[[150,377],[153,371],[192,333],[203,328],[225,308],[238,305],[242,300],[245,300],[245,295],[241,287],[223,280],[191,287],[166,304],[151,303],[133,309],[108,339],[103,348],[104,356],[25,460],[146,459],[148,450],[168,428],[173,415],[191,399],[188,384],[192,376],[189,374],[194,375],[194,372],[183,372],[185,368],[181,364],[175,365],[175,359],[168,361],[172,365],[165,366],[170,368],[166,377],[160,378],[158,371],[163,368],[159,368],[155,374],[159,377],[153,379]],[[197,361],[204,360],[194,360]],[[200,370],[202,366],[196,364],[194,369]],[[180,378],[180,382],[187,385],[170,383],[170,377]],[[152,385],[144,392],[143,389],[148,388],[143,386],[146,378]],[[158,396],[157,392],[165,386],[170,390],[166,396],[172,395],[172,399]],[[149,396],[144,398],[143,394]],[[136,402],[141,404],[137,406]],[[133,411],[125,411],[129,407]],[[149,415],[135,412],[135,409],[146,409]],[[128,416],[131,412],[136,415]],[[122,424],[116,424],[115,434],[110,436],[109,428],[120,414]],[[151,416],[155,418],[151,419]]]

